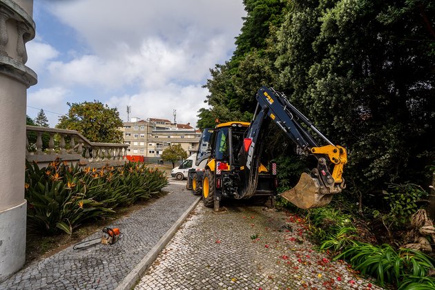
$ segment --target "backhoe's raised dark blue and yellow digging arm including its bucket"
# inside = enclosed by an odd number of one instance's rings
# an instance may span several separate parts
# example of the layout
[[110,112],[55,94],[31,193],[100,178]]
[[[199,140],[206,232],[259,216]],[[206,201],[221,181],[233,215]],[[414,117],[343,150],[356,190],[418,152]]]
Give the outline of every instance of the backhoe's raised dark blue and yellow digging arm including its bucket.
[[[255,193],[264,136],[269,123],[274,122],[302,151],[318,160],[318,166],[310,174],[302,173],[298,184],[282,193],[282,197],[301,209],[329,204],[332,196],[345,188],[342,178],[343,166],[347,162],[345,148],[334,145],[322,135],[307,117],[290,104],[284,94],[263,86],[258,90],[256,99],[258,105],[244,139],[244,148],[240,151],[246,164],[244,174],[247,181],[241,197],[249,197]],[[326,145],[320,146],[309,129]]]

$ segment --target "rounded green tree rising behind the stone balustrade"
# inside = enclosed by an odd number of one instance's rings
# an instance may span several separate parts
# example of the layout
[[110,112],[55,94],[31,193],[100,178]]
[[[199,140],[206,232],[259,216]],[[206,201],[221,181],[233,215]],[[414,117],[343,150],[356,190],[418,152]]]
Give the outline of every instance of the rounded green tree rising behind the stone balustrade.
[[123,142],[119,130],[122,120],[117,108],[109,108],[96,100],[67,104],[70,106],[68,114],[59,118],[56,128],[79,131],[91,142]]

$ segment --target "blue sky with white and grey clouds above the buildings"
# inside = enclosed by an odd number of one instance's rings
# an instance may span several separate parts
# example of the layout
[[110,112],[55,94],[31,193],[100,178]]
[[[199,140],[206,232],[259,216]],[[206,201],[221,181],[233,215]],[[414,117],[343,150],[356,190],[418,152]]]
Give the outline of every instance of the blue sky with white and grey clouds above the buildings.
[[246,15],[242,0],[35,0],[37,36],[27,66],[38,84],[27,113],[50,126],[67,102],[93,101],[130,117],[192,125],[205,107],[209,69],[231,57]]

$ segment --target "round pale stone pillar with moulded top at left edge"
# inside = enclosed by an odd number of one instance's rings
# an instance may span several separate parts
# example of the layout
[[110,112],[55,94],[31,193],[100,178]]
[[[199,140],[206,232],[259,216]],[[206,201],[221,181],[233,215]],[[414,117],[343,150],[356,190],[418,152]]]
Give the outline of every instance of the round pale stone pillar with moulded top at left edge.
[[0,0],[0,281],[26,259],[26,90],[37,83],[25,66],[32,8],[33,0]]

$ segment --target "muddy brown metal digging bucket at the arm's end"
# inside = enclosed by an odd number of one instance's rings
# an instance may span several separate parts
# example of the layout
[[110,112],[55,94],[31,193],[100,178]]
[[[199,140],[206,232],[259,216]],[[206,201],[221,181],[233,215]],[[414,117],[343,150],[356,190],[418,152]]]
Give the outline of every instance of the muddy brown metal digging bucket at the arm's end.
[[320,182],[307,173],[302,173],[298,184],[293,189],[284,191],[281,196],[300,209],[313,209],[326,206],[333,194],[320,193]]

